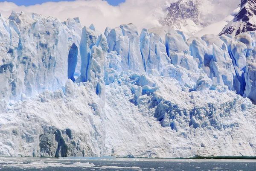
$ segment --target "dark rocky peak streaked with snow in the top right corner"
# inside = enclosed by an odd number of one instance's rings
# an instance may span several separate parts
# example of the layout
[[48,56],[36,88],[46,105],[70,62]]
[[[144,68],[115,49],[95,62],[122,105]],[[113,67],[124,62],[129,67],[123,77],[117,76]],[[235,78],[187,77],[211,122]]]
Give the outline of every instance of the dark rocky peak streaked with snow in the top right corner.
[[224,27],[220,35],[239,35],[254,30],[256,30],[256,0],[242,0],[239,13]]

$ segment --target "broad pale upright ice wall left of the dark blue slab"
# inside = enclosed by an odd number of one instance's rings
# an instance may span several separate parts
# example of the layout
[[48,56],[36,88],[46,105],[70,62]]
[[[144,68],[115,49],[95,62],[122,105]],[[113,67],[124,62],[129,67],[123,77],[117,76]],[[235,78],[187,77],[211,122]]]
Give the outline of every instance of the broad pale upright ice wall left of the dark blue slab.
[[1,96],[17,101],[22,94],[36,96],[64,86],[72,45],[69,29],[54,17],[35,13],[12,12],[9,20],[0,20],[1,40],[8,46],[1,47],[0,79],[8,84],[0,88]]

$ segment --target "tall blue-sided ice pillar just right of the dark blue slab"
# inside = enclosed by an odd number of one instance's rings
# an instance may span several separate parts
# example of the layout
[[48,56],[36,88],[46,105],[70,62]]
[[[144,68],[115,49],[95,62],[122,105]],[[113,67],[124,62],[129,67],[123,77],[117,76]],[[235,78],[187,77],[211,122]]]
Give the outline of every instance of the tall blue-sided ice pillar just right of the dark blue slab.
[[76,83],[89,81],[103,101],[105,99],[104,61],[108,49],[104,34],[98,36],[93,25],[90,28],[83,28],[80,42],[81,76],[76,79]]

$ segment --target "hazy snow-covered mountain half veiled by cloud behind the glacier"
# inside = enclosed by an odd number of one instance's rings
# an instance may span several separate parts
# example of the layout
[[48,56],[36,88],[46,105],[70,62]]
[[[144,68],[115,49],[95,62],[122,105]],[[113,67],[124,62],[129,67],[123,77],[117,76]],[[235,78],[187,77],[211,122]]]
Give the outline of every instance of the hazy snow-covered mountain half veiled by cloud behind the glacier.
[[166,9],[167,15],[160,23],[187,34],[195,34],[204,27],[221,21],[239,4],[240,0],[175,0]]

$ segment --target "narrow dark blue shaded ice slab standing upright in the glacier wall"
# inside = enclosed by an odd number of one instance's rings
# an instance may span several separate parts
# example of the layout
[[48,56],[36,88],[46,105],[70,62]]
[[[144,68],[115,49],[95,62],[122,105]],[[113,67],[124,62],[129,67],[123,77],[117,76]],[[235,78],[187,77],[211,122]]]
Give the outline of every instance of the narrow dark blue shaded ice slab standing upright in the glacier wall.
[[71,79],[73,82],[76,80],[74,78],[74,74],[76,71],[77,55],[78,55],[78,47],[76,46],[75,43],[73,43],[67,58],[67,63],[68,63],[67,77]]

